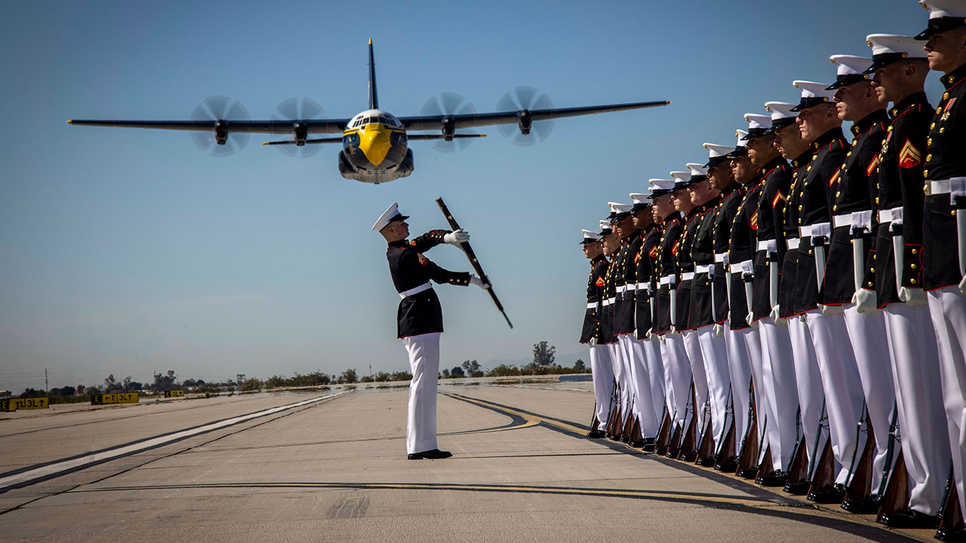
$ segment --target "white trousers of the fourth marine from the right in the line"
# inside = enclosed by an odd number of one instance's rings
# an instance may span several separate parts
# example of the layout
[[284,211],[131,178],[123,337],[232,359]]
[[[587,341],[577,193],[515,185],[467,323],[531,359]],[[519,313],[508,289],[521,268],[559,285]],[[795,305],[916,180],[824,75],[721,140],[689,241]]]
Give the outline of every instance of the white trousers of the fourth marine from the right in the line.
[[842,313],[826,315],[818,309],[812,309],[805,316],[825,390],[825,412],[838,468],[836,482],[845,484],[854,455],[866,445],[866,434],[857,432],[865,400],[862,379],[845,329],[845,316]]

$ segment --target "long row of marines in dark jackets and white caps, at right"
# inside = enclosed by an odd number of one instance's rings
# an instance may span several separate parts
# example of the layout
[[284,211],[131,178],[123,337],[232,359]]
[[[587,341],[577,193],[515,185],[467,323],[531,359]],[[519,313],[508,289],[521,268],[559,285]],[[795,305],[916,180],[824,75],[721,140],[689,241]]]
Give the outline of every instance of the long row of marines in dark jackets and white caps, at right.
[[583,230],[589,437],[966,540],[966,0],[920,3]]

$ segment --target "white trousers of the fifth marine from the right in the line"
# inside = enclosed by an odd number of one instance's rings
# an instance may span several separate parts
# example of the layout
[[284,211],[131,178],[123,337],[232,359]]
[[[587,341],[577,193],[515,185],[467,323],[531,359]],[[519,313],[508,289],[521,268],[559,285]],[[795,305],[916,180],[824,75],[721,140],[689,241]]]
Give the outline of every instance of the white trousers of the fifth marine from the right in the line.
[[[795,383],[798,385],[802,434],[805,437],[805,448],[811,466],[817,461],[812,458],[812,455],[816,450],[821,453],[821,447],[825,445],[825,440],[820,439],[822,438],[820,433],[822,404],[825,400],[822,376],[818,373],[818,362],[815,360],[815,349],[811,343],[809,328],[797,316],[788,319],[788,337],[791,339],[791,356],[795,363]],[[794,451],[791,451],[791,454],[794,454]]]

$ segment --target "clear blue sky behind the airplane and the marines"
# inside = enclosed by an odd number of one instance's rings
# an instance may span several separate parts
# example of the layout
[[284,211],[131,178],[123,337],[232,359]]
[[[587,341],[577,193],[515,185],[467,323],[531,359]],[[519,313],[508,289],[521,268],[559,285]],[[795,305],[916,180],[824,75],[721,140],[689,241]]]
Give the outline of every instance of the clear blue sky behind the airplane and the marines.
[[[383,239],[392,202],[412,231],[445,198],[516,328],[489,298],[440,286],[442,367],[572,361],[588,267],[578,242],[609,200],[731,144],[742,114],[832,81],[832,54],[914,34],[913,0],[801,2],[5,2],[0,7],[0,388],[267,378],[408,368]],[[70,127],[71,118],[186,119],[212,95],[252,118],[308,97],[366,106],[366,43],[381,105],[418,114],[443,92],[492,110],[518,85],[561,107],[673,100],[558,121],[532,147],[497,128],[466,151],[412,142],[416,170],[342,179],[337,146],[297,158],[258,145],[210,157],[186,132]],[[929,80],[936,99],[938,77]],[[469,270],[454,247],[430,258]]]

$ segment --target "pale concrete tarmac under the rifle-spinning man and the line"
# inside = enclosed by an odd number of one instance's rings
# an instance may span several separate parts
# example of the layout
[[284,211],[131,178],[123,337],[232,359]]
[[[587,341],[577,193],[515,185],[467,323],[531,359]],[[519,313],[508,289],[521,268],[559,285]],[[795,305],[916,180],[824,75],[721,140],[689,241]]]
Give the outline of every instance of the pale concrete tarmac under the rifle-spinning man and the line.
[[[908,541],[871,517],[583,437],[586,384],[443,382],[440,448],[406,459],[405,387],[0,420],[5,476],[260,414],[0,486],[0,541]],[[912,539],[910,539],[912,538]]]

